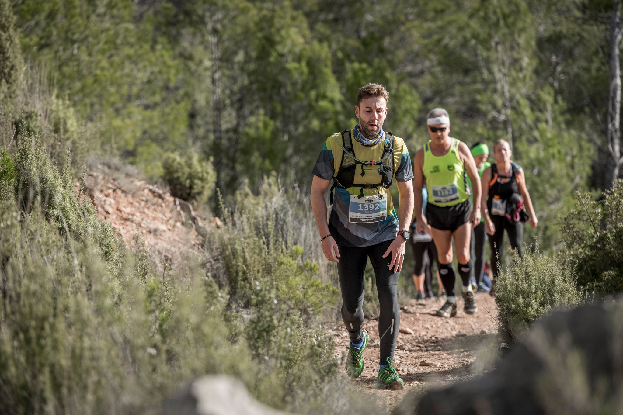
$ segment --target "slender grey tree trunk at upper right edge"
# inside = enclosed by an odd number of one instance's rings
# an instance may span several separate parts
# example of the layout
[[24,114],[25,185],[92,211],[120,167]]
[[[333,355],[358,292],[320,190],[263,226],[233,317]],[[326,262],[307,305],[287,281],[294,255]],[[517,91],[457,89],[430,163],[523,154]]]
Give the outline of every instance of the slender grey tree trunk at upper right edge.
[[621,62],[619,45],[621,44],[621,4],[614,0],[610,21],[610,90],[608,99],[608,151],[611,155],[611,169],[608,172],[607,187],[619,177],[621,170]]

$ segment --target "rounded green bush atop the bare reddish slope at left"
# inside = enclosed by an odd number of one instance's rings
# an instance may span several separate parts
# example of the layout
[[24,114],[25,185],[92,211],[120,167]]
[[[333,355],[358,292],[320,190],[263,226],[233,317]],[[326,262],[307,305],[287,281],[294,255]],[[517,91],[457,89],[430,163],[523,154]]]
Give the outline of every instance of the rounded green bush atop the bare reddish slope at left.
[[212,160],[203,161],[196,153],[183,159],[179,154],[168,154],[163,161],[163,179],[174,197],[206,203],[214,191],[216,173]]

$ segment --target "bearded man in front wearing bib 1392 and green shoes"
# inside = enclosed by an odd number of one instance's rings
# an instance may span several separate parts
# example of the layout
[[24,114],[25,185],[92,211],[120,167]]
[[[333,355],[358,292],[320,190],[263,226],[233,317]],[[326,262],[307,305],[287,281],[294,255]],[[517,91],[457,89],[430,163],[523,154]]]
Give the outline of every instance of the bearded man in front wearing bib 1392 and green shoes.
[[[311,198],[323,253],[338,266],[342,319],[350,335],[346,373],[356,378],[364,367],[369,334],[362,328],[363,275],[369,258],[381,305],[377,386],[402,389],[404,381],[392,358],[400,324],[398,276],[413,212],[413,174],[404,141],[383,131],[388,98],[383,85],[369,83],[359,89],[354,107],[359,122],[326,139],[313,169]],[[389,191],[394,179],[400,195],[397,213]],[[331,180],[333,209],[327,223],[324,194]]]

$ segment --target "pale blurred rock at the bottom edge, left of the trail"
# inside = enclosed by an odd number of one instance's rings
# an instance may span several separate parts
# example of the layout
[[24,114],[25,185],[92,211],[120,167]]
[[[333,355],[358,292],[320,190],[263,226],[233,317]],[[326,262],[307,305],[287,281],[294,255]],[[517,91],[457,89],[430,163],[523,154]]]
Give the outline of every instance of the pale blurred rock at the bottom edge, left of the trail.
[[229,376],[204,376],[164,403],[163,415],[285,415],[252,398],[244,384]]

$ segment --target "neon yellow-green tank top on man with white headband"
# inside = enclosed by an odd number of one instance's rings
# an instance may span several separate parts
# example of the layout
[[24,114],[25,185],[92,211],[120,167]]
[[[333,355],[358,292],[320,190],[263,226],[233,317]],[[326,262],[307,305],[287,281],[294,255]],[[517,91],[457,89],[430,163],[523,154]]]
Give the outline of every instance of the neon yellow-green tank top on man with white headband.
[[430,142],[424,146],[422,172],[428,190],[428,202],[435,206],[455,206],[470,197],[466,184],[465,166],[459,155],[459,140],[453,138],[450,150],[443,156],[434,156]]

